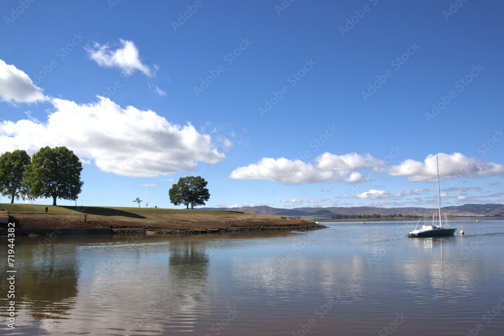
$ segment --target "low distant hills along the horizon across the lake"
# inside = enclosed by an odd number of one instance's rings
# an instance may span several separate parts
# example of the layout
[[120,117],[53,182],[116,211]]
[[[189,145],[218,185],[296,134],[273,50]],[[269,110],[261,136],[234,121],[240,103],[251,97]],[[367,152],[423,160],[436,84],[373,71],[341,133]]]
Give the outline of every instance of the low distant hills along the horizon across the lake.
[[[318,217],[331,218],[335,215],[390,215],[431,216],[437,212],[435,208],[375,208],[375,207],[329,207],[329,208],[293,208],[278,209],[268,206],[243,208],[200,208],[201,210],[238,211],[257,215],[271,215],[280,217]],[[504,216],[502,204],[465,204],[458,207],[445,207],[442,212],[448,216],[461,217],[494,217]]]

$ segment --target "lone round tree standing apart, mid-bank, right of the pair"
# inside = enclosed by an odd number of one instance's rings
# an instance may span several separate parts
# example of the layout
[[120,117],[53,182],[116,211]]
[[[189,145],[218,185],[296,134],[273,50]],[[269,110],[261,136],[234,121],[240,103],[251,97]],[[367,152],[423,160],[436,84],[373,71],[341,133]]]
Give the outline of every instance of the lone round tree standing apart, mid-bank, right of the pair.
[[173,184],[169,190],[170,202],[175,206],[183,204],[189,209],[194,206],[205,205],[205,201],[210,198],[210,193],[206,188],[208,182],[201,176],[180,177],[178,183]]

